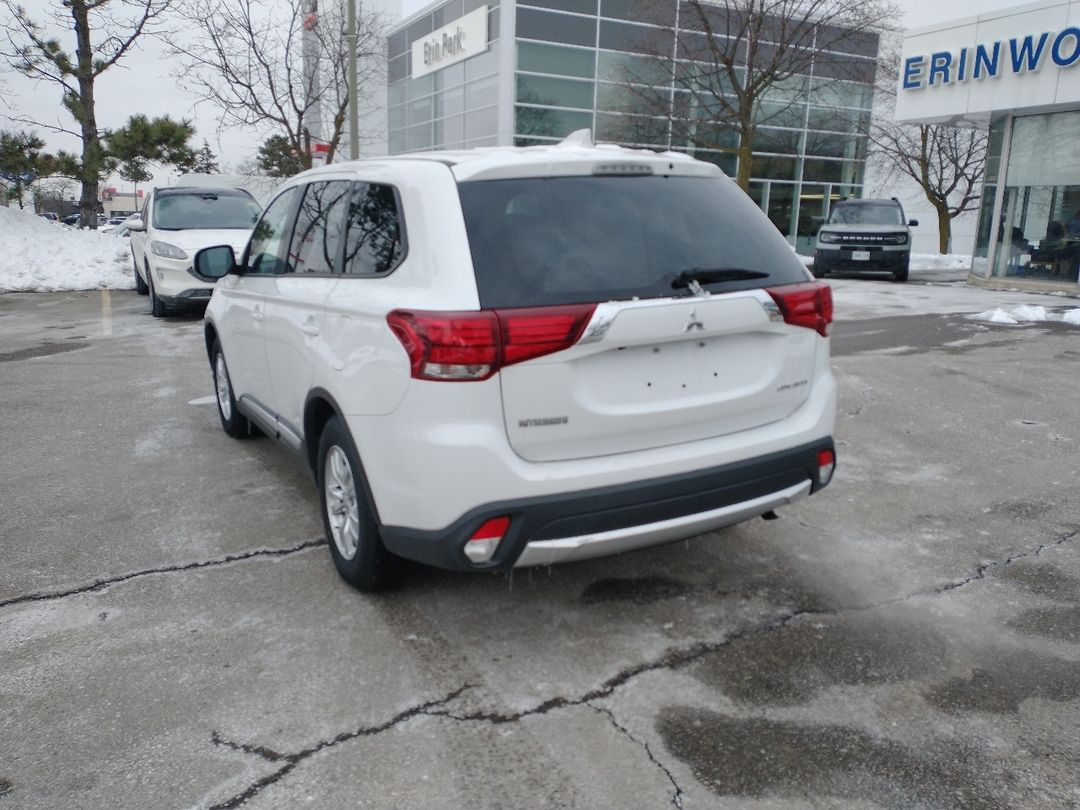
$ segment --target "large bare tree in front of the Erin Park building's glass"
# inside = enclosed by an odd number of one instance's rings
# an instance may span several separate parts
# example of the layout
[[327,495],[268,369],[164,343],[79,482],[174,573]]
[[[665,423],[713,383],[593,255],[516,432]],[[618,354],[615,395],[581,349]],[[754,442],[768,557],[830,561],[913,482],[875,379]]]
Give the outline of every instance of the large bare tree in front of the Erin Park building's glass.
[[[653,76],[621,83],[636,97],[634,109],[669,120],[672,145],[737,156],[745,190],[759,127],[806,102],[811,73],[819,85],[872,82],[873,63],[848,54],[876,54],[879,32],[897,14],[890,0],[685,0],[677,19],[643,14],[659,26],[637,48],[652,58],[646,71]],[[657,81],[659,62],[667,63],[674,92]]]

